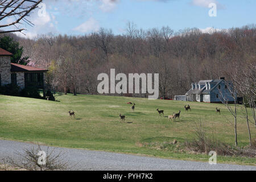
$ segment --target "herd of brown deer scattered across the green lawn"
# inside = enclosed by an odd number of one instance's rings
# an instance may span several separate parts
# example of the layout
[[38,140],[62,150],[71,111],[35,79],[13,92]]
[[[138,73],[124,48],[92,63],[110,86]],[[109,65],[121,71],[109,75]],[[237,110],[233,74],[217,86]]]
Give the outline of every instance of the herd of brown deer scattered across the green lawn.
[[[132,105],[132,106],[131,106],[131,110],[134,111],[134,109],[135,109],[135,103],[126,102],[126,104],[131,104],[131,105]],[[191,107],[189,106],[189,104],[188,104],[188,106],[185,105],[184,108],[185,108],[185,111],[188,111],[188,110],[191,111]],[[158,111],[159,116],[160,116],[160,114],[163,114],[163,117],[164,117],[164,110],[159,110],[159,108],[156,109],[156,110]],[[69,113],[69,116],[70,116],[70,117],[73,116],[74,118],[76,118],[75,112],[74,112],[73,110],[72,110],[72,112],[71,112],[71,110],[69,110],[68,113]],[[219,114],[220,114],[220,109],[218,109],[217,107],[216,107],[216,113],[219,113]],[[119,117],[120,117],[120,120],[121,120],[121,121],[125,121],[125,115],[119,114]],[[172,115],[168,115],[168,119],[169,119],[169,120],[172,119],[172,121],[175,121],[176,118],[179,118],[179,119],[180,119],[180,110],[179,110],[179,113],[173,113]]]

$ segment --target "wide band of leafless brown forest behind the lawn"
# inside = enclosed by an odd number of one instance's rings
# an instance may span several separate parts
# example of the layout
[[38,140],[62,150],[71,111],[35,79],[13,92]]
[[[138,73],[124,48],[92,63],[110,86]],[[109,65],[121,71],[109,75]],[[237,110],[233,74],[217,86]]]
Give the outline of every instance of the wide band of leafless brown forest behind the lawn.
[[185,94],[192,82],[219,77],[238,77],[243,82],[246,74],[255,73],[255,24],[222,31],[186,28],[175,32],[169,26],[142,30],[129,22],[122,35],[100,28],[81,36],[3,36],[23,48],[20,63],[48,69],[47,89],[65,94],[98,94],[97,76],[109,73],[110,68],[116,74],[159,73],[159,97],[170,98]]

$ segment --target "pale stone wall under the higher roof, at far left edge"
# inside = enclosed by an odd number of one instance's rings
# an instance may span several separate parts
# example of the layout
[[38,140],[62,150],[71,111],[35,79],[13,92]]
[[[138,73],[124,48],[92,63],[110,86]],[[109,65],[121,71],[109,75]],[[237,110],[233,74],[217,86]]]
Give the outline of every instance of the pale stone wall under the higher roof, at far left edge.
[[0,56],[1,85],[11,84],[11,58]]

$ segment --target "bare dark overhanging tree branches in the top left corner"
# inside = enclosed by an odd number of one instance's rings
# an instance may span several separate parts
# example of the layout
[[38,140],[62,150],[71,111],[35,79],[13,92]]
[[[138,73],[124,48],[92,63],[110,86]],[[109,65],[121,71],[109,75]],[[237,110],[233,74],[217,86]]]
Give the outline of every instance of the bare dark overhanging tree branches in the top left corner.
[[43,0],[1,0],[0,1],[0,22],[7,18],[13,18],[13,22],[0,24],[0,28],[11,27],[13,30],[0,31],[0,34],[9,32],[21,32],[25,30],[20,24],[27,23],[30,26],[34,24],[27,19],[32,10],[36,9]]

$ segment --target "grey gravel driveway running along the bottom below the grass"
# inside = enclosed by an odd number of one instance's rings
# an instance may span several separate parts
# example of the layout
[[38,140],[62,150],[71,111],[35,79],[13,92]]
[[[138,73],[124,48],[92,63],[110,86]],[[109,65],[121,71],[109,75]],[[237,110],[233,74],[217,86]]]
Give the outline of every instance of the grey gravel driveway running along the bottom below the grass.
[[[36,147],[36,144],[0,140],[0,157],[15,158],[16,152],[23,152],[24,148]],[[204,162],[191,162],[185,160],[159,159],[137,155],[118,154],[114,152],[80,150],[73,148],[55,148],[61,151],[73,170],[249,170],[256,171],[256,166],[240,166],[231,164],[210,165]],[[46,150],[47,146],[42,146]],[[76,164],[76,165],[75,165]]]

